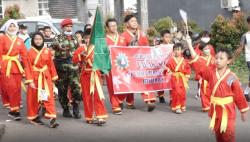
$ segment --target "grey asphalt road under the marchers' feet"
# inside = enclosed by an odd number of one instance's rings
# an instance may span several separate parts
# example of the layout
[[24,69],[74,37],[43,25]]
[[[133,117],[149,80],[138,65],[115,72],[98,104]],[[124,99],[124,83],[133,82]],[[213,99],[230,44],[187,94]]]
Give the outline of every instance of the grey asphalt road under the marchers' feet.
[[[5,125],[1,142],[214,142],[214,136],[208,129],[209,118],[200,111],[200,101],[194,99],[196,83],[190,81],[187,94],[187,112],[174,114],[167,104],[157,103],[153,112],[146,111],[141,96],[136,95],[136,109],[125,109],[123,115],[111,113],[109,99],[106,106],[109,118],[105,126],[86,124],[83,119],[66,119],[57,103],[58,122],[60,126],[51,129],[35,126],[25,118],[25,107],[22,109],[23,120],[12,121],[8,110],[0,108],[0,123]],[[105,92],[106,89],[104,89]],[[168,91],[165,98],[168,101]],[[106,93],[107,94],[107,93]],[[23,94],[25,98],[25,94]],[[81,107],[82,108],[82,107]],[[82,109],[81,109],[82,111]],[[250,118],[250,117],[249,117]],[[47,122],[44,120],[44,122]],[[243,123],[237,117],[236,139],[238,142],[250,141],[250,119]]]

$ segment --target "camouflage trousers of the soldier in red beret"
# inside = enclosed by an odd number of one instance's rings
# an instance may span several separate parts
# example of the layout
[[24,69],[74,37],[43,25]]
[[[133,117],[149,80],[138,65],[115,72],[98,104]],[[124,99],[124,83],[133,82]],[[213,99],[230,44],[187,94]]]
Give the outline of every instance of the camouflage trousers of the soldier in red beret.
[[72,103],[81,101],[79,71],[72,64],[56,64],[59,80],[56,82],[58,88],[58,99],[63,109],[68,109],[70,88]]

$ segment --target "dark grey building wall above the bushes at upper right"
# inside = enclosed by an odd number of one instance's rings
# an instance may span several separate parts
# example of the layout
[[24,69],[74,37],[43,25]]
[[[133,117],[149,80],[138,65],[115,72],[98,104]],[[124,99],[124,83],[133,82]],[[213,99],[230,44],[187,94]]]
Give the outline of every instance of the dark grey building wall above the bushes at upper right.
[[241,11],[250,13],[249,0],[148,0],[149,24],[166,16],[178,22],[181,20],[179,9],[183,9],[189,19],[196,21],[201,28],[209,30],[217,15],[232,15],[232,9],[224,9],[224,5],[233,7],[237,2],[240,2]]

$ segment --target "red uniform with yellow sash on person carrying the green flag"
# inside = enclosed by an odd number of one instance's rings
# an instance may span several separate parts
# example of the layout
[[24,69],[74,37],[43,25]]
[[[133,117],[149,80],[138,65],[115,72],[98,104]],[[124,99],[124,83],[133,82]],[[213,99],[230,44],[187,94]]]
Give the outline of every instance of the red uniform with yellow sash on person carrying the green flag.
[[96,114],[97,125],[102,126],[106,123],[108,115],[102,91],[101,72],[92,69],[93,58],[93,45],[80,46],[74,52],[72,61],[74,64],[82,64],[80,83],[86,123],[94,124],[93,115]]

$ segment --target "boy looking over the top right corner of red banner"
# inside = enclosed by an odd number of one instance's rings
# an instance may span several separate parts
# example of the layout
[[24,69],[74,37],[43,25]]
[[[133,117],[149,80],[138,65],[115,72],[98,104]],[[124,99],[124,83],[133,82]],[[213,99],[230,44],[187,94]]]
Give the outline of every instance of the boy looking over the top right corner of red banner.
[[[165,45],[165,46],[168,46],[169,48],[173,48],[174,44],[171,43],[172,35],[171,35],[169,30],[161,31],[161,38],[162,38],[162,43],[160,44],[160,46]],[[159,102],[160,103],[166,103],[166,101],[164,99],[164,91],[158,91],[157,95],[159,97]]]

